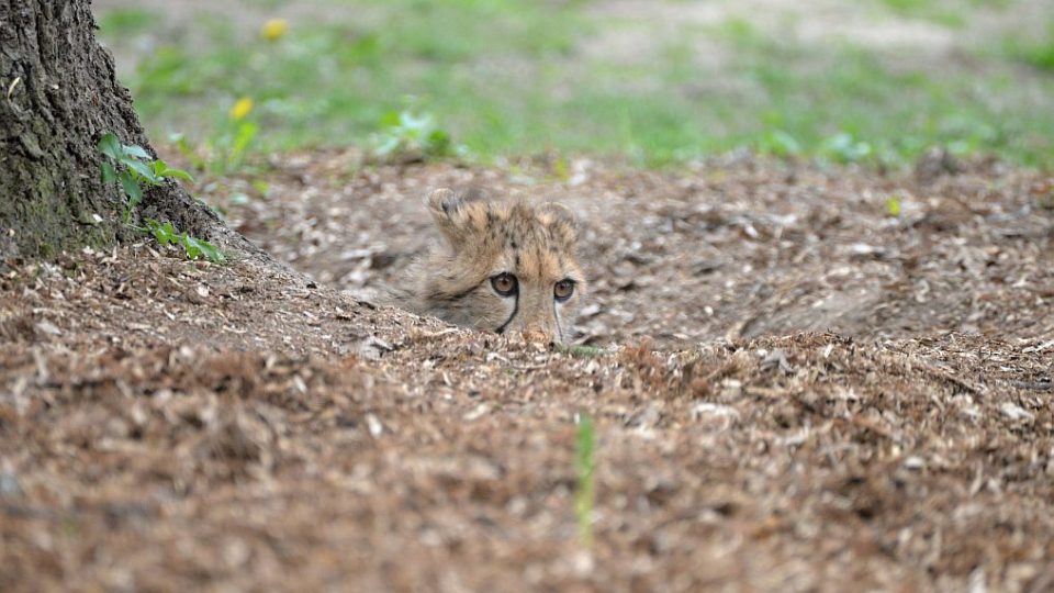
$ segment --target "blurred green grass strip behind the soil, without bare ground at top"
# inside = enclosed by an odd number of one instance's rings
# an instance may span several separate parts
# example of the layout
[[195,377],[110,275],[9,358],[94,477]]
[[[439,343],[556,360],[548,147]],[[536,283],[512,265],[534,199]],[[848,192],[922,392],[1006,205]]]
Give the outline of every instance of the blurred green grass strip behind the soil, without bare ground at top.
[[[176,26],[112,11],[100,22],[117,53],[152,47],[120,75],[159,138],[183,132],[208,143],[229,127],[235,100],[251,97],[261,148],[367,147],[413,97],[417,113],[464,147],[459,154],[480,160],[557,149],[662,166],[745,146],[888,165],[933,145],[1054,160],[1054,78],[1020,67],[1054,68],[1049,41],[934,66],[851,41],[808,45],[733,16],[679,26],[626,59],[590,48],[640,25],[588,3],[371,0],[351,10],[328,1],[340,9],[330,21],[294,23],[277,41],[256,34],[261,23],[208,16]],[[926,18],[941,5],[879,4]],[[944,25],[960,29],[972,11],[999,4],[957,2],[963,22]],[[253,5],[282,16],[280,4]],[[708,52],[721,59],[705,59]]]

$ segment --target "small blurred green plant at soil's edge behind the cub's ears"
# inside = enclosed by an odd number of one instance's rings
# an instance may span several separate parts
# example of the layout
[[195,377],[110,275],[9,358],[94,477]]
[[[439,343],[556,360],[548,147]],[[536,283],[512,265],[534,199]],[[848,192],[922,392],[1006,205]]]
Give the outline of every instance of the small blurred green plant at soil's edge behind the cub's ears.
[[425,159],[450,156],[456,150],[450,134],[436,124],[436,118],[412,107],[385,113],[379,127],[372,138],[372,153],[379,159]]

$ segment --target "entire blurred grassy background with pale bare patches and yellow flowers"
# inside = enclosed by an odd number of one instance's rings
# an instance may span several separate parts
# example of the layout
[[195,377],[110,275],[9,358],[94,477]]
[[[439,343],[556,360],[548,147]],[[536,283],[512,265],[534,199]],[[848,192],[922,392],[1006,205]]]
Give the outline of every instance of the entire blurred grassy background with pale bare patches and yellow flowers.
[[1049,0],[93,7],[162,144],[644,166],[738,148],[894,167],[932,146],[1054,156]]

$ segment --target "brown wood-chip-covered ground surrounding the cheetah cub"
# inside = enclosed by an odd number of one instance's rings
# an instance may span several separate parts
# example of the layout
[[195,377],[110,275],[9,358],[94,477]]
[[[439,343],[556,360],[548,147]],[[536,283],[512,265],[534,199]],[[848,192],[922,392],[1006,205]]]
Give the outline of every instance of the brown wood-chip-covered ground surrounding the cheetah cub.
[[[355,163],[285,159],[247,204],[213,192],[314,279],[148,245],[9,262],[0,590],[1054,583],[1049,180]],[[362,300],[430,240],[437,186],[576,211],[581,339],[612,346]]]

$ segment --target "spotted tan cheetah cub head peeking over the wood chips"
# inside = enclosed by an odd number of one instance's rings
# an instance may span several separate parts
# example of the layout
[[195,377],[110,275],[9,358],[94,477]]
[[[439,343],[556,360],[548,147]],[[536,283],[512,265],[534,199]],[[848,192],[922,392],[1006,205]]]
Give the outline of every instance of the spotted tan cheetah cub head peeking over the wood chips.
[[403,306],[475,329],[568,339],[585,293],[578,225],[547,202],[467,201],[449,189],[425,203],[445,239],[410,270]]

